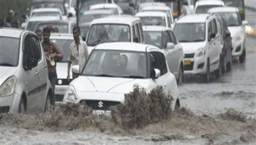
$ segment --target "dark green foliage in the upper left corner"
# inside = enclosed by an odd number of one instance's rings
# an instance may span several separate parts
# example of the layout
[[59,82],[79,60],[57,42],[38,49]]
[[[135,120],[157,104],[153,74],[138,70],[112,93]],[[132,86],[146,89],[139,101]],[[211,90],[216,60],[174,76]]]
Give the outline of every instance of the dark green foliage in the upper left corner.
[[26,13],[26,9],[29,8],[30,0],[0,0],[0,20],[4,20],[8,16],[9,10],[14,10],[18,13],[19,21],[23,21],[22,14]]

